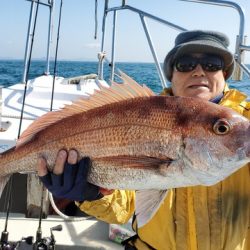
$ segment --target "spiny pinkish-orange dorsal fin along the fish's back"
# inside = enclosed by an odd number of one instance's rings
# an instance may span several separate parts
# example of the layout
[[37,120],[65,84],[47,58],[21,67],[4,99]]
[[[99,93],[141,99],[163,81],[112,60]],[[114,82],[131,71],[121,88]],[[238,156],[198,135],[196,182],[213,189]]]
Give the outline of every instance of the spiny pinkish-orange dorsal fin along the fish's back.
[[100,90],[95,90],[94,94],[87,99],[78,99],[71,105],[65,105],[61,110],[48,112],[41,116],[22,133],[16,147],[27,143],[38,132],[66,117],[131,98],[155,95],[146,85],[141,86],[125,73],[120,72],[120,74],[123,83],[113,82],[110,87],[100,87]]

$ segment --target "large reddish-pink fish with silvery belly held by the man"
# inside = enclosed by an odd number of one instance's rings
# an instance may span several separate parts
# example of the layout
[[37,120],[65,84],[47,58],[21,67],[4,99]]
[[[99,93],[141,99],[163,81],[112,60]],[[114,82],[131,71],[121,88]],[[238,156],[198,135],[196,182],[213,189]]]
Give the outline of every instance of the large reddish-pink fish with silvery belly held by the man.
[[0,155],[0,188],[13,173],[36,172],[39,156],[52,170],[58,151],[74,148],[92,161],[88,182],[136,190],[142,226],[167,190],[213,185],[249,163],[247,118],[199,98],[156,95],[123,72],[121,78],[34,121]]

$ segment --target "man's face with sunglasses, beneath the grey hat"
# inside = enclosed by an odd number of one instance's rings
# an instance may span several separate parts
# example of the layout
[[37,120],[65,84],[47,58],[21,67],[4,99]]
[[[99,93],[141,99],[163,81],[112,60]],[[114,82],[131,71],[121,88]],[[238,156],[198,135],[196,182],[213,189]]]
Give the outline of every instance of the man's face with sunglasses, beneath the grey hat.
[[[197,66],[195,66],[195,63],[191,63],[190,65],[194,66],[190,67],[188,71],[185,70],[185,63],[188,65],[189,60],[190,62],[192,62],[192,60],[195,62],[196,58],[201,59],[200,61],[198,59],[200,63],[197,64]],[[175,96],[198,97],[211,100],[223,92],[225,87],[223,69],[216,70],[217,68],[212,68],[213,71],[210,71],[210,69],[207,69],[205,66],[202,67],[201,64],[204,64],[206,60],[206,55],[204,54],[191,54],[186,56],[183,61],[180,60],[179,65],[184,66],[183,68],[180,67],[180,69],[184,69],[185,72],[178,71],[178,66],[174,66],[172,90]],[[216,64],[216,60],[213,61],[213,58],[211,61]]]

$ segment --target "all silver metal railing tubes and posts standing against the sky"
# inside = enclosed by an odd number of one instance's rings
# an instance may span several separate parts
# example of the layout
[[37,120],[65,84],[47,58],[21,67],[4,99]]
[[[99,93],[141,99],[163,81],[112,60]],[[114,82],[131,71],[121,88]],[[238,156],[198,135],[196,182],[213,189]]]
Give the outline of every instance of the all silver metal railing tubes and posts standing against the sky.
[[[25,49],[25,59],[24,59],[24,72],[23,72],[23,82],[27,80],[27,69],[29,67],[29,56],[32,51],[32,39],[33,39],[33,28],[35,26],[35,18],[34,16],[36,15],[38,5],[44,5],[46,7],[49,7],[49,27],[48,27],[48,42],[47,42],[47,63],[46,63],[46,69],[45,69],[45,74],[50,74],[50,69],[49,69],[49,58],[50,58],[50,48],[51,48],[51,36],[52,36],[52,14],[54,12],[54,2],[55,0],[49,0],[49,1],[37,1],[37,0],[28,0],[31,2],[31,8],[30,8],[30,18],[29,18],[29,26],[28,26],[28,33],[27,33],[27,41],[26,41],[26,49]],[[246,51],[250,51],[250,46],[246,45],[246,36],[245,36],[245,13],[243,8],[238,4],[233,1],[225,1],[225,0],[179,0],[179,1],[184,1],[184,2],[192,2],[192,3],[198,3],[198,4],[209,4],[209,5],[215,5],[215,6],[220,6],[220,7],[230,7],[235,9],[238,14],[239,14],[239,29],[238,29],[238,34],[236,36],[236,45],[235,45],[235,60],[237,62],[237,68],[234,72],[233,79],[234,80],[241,80],[243,76],[243,72],[246,73],[250,77],[250,70],[244,63],[244,53]],[[184,27],[181,27],[179,25],[176,25],[168,20],[159,18],[155,15],[152,15],[150,13],[147,13],[141,9],[134,8],[130,5],[126,4],[126,0],[121,0],[121,4],[116,7],[109,7],[109,0],[105,0],[104,4],[104,12],[103,12],[103,21],[102,21],[102,40],[101,40],[101,48],[100,52],[98,55],[99,58],[99,63],[98,63],[98,78],[103,79],[103,67],[104,67],[104,62],[108,61],[109,65],[111,67],[110,70],[110,81],[114,80],[115,76],[115,67],[116,67],[116,28],[117,28],[117,15],[118,11],[121,10],[128,10],[134,13],[137,13],[140,17],[142,27],[144,29],[144,33],[146,35],[150,51],[152,53],[154,63],[157,68],[157,72],[161,81],[161,85],[163,88],[167,86],[167,81],[166,78],[163,74],[161,64],[159,62],[159,59],[157,57],[157,53],[153,44],[153,40],[150,35],[150,31],[147,25],[147,20],[154,20],[157,21],[163,25],[166,25],[172,29],[178,30],[178,31],[185,31]],[[111,59],[107,59],[107,54],[105,52],[105,36],[106,36],[106,19],[109,13],[113,13],[113,30],[112,30],[112,49],[111,49]]]

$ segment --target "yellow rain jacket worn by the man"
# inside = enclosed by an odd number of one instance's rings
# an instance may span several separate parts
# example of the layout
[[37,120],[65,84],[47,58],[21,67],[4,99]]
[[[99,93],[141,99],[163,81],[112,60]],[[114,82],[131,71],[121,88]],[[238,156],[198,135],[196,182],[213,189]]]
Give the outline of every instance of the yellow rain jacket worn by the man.
[[[164,94],[170,94],[167,89]],[[225,88],[220,105],[250,119],[250,102]],[[100,200],[78,204],[108,223],[126,223],[135,208],[134,191],[116,190]],[[133,225],[136,230],[136,221]],[[249,250],[250,163],[216,185],[171,189],[165,201],[131,241],[136,249]]]

